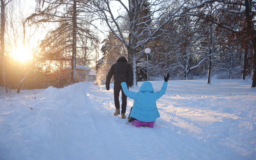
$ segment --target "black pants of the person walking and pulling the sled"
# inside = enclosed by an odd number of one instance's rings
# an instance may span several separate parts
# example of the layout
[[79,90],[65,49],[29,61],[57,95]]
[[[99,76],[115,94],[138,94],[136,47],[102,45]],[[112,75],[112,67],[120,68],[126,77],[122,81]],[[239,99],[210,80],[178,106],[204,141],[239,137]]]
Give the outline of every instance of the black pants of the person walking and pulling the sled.
[[[127,83],[126,83],[127,85]],[[129,87],[128,87],[129,89]],[[125,113],[126,112],[126,105],[127,105],[127,96],[124,94],[124,91],[122,89],[121,86],[121,82],[115,82],[114,83],[114,101],[115,101],[115,107],[116,108],[120,108],[120,102],[119,102],[119,94],[120,91],[122,91],[122,110],[121,113]]]

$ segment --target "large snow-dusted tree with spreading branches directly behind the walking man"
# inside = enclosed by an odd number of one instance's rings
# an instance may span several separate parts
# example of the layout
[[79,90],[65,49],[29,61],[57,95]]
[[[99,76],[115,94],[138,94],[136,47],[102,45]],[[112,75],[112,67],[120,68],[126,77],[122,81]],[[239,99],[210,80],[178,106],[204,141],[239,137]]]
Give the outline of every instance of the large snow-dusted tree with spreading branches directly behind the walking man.
[[[146,8],[142,7],[145,0],[128,0],[128,4],[123,3],[122,0],[91,0],[90,2],[90,10],[97,15],[98,19],[105,22],[108,31],[113,32],[115,37],[127,48],[128,62],[131,63],[134,73],[133,83],[137,85],[136,59],[138,47],[143,47],[145,43],[155,39],[156,33],[161,27],[176,18],[180,8],[166,14],[165,11],[172,4],[163,5],[163,0],[153,0]],[[183,6],[184,3],[180,6]],[[112,5],[118,6],[118,8],[115,7],[114,9],[111,7]],[[151,13],[140,17],[145,10],[150,10]],[[124,25],[121,23],[123,21],[128,22],[128,24]],[[147,38],[140,39],[145,34],[148,35]]]

